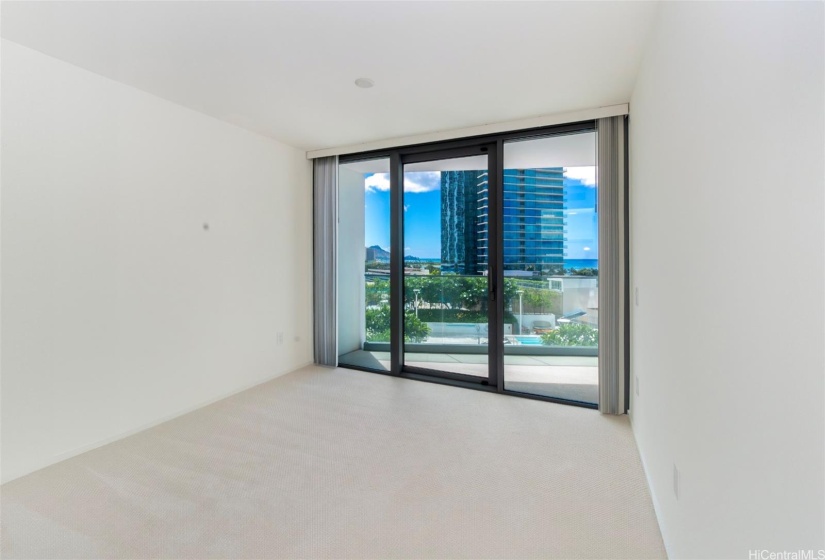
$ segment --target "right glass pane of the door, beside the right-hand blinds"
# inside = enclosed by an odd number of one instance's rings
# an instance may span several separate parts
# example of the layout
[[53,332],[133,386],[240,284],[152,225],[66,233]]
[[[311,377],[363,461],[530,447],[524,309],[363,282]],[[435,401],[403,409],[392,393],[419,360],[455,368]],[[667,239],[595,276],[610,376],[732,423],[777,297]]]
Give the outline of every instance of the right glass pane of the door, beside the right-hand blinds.
[[595,132],[504,144],[508,391],[598,402],[595,164]]

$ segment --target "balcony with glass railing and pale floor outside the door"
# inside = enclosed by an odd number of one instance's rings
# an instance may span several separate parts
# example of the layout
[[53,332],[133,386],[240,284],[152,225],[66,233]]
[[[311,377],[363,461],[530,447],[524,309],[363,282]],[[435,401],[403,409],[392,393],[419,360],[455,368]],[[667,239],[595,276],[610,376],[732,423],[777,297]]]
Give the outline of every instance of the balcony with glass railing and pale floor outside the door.
[[[487,377],[487,277],[408,276],[404,292],[404,363]],[[506,389],[598,401],[597,292],[597,276],[505,278]],[[365,278],[365,327],[360,344],[342,346],[340,364],[390,368],[388,302],[389,279]]]

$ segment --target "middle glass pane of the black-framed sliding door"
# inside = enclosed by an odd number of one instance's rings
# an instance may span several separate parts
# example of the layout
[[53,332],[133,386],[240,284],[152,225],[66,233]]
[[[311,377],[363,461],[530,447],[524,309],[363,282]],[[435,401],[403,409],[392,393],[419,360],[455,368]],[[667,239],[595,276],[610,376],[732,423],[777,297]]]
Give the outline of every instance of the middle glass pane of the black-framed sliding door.
[[487,155],[406,163],[404,365],[489,377]]

